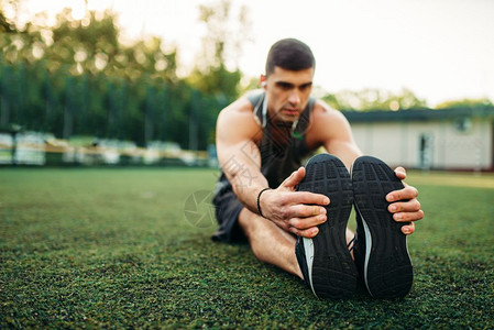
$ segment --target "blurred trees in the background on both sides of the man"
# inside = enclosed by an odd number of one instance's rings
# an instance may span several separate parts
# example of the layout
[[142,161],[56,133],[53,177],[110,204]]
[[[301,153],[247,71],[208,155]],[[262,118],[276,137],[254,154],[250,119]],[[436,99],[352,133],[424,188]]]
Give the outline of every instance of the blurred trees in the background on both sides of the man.
[[[121,42],[118,16],[69,9],[47,25],[43,14],[19,26],[21,0],[0,0],[0,127],[74,135],[174,141],[206,150],[216,117],[240,92],[235,58],[249,41],[249,12],[230,0],[199,7],[206,28],[202,51],[187,77],[177,75],[177,48],[146,37]],[[10,14],[9,14],[10,13]],[[233,26],[233,28],[232,28]],[[256,85],[251,81],[251,86]],[[323,99],[340,110],[425,108],[410,90],[343,90]],[[485,99],[444,102],[437,108],[492,106]]]

